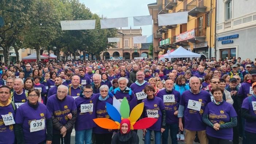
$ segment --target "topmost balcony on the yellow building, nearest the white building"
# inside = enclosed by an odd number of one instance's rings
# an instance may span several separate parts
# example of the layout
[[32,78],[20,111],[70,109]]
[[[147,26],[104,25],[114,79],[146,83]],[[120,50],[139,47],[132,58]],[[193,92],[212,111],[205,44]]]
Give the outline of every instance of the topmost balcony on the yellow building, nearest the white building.
[[206,11],[206,0],[193,0],[187,4],[189,15],[196,17],[198,13]]

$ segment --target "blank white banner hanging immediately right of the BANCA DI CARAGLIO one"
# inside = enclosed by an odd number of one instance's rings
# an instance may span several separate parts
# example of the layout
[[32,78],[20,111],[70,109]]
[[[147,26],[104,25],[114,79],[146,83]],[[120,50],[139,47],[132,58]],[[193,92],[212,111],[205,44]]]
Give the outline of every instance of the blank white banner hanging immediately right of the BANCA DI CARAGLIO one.
[[120,27],[128,27],[128,17],[100,20],[100,28],[120,28]]

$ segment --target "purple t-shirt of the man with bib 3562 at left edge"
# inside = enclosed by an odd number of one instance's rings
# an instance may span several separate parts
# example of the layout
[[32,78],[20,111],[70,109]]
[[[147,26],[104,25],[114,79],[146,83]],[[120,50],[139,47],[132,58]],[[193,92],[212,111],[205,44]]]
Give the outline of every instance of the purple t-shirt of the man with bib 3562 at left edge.
[[7,115],[12,113],[13,118],[15,119],[15,112],[13,110],[12,104],[9,104],[5,107],[0,107],[0,144],[14,144],[15,134],[13,125],[5,126],[3,117],[1,115]]

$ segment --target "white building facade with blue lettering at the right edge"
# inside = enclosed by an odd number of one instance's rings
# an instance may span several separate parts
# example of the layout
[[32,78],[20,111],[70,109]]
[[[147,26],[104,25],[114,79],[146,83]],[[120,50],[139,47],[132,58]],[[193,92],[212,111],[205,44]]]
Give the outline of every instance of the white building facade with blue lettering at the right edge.
[[255,59],[255,0],[217,1],[217,58]]

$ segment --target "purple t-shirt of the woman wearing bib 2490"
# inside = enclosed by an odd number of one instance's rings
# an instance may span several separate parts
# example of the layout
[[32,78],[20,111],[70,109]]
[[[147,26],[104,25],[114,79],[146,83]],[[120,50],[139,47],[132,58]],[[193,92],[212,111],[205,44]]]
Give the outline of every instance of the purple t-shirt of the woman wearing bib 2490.
[[147,110],[151,111],[158,111],[158,120],[155,124],[153,124],[150,128],[150,130],[154,131],[161,131],[161,125],[162,125],[162,113],[161,110],[164,109],[164,103],[163,100],[160,97],[154,97],[153,99],[144,99],[142,102],[144,102],[144,110],[145,110],[145,117],[148,117],[148,113],[150,113]]

